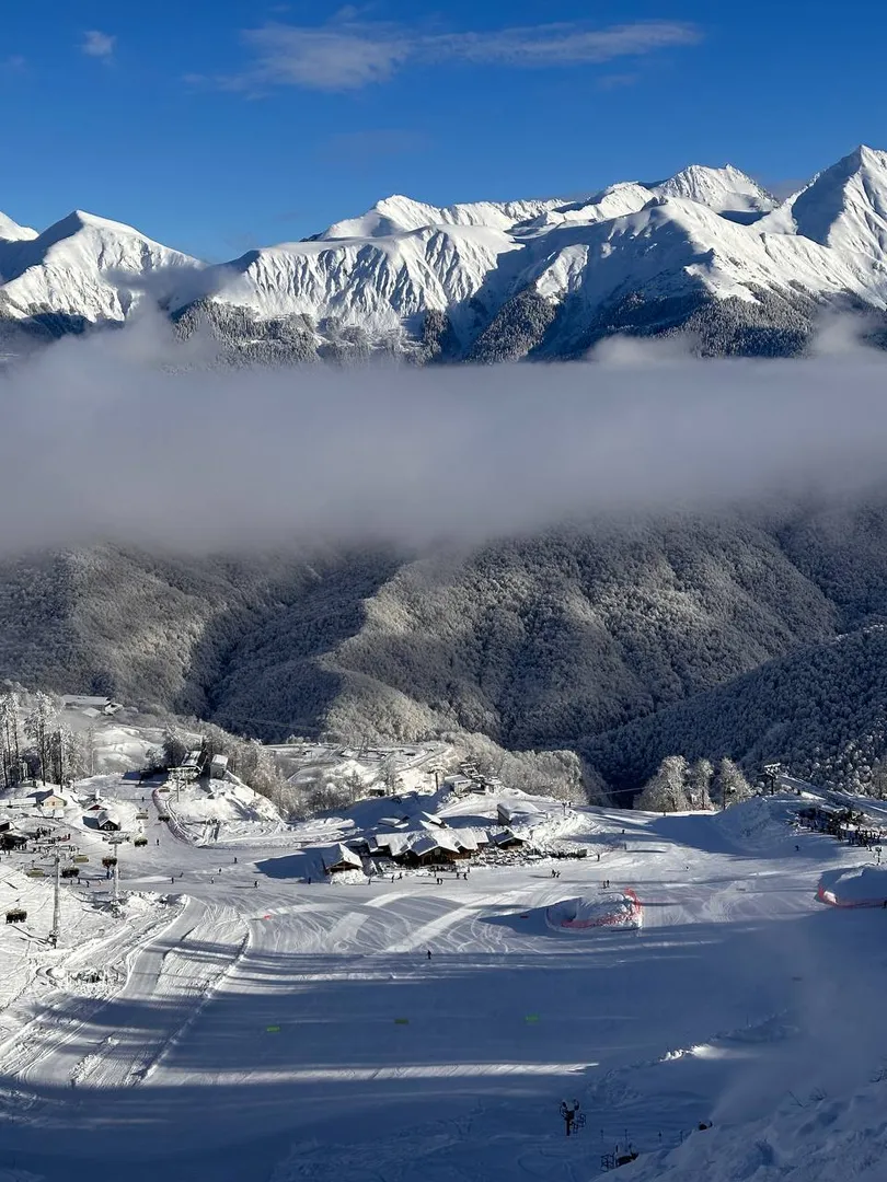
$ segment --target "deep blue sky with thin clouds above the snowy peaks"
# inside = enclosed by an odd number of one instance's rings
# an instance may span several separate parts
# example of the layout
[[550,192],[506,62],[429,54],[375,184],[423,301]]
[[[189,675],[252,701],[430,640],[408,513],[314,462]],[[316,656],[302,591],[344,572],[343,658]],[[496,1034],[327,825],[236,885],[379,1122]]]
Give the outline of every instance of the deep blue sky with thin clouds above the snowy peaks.
[[0,209],[224,259],[390,193],[575,195],[887,147],[875,0],[7,0]]

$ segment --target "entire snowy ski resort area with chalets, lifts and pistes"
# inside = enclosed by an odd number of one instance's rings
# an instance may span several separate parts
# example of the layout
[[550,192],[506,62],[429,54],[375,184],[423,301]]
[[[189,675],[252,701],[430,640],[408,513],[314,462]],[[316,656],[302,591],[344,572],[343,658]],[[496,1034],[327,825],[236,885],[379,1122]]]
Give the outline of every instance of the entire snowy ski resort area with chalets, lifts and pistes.
[[883,1177],[887,805],[4,703],[2,1182]]

